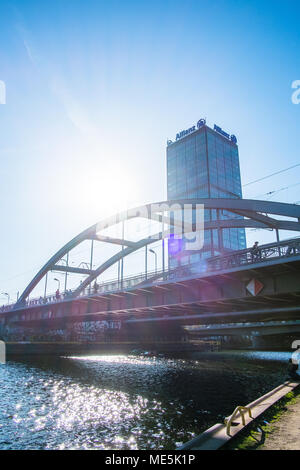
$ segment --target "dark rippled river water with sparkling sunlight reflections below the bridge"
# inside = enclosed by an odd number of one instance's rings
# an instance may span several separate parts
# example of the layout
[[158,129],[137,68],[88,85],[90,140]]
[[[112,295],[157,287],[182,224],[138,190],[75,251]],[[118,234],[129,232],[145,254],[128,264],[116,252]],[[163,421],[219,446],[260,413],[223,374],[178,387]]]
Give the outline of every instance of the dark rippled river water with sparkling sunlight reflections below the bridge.
[[290,353],[0,365],[0,449],[174,449],[287,378]]

